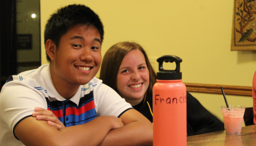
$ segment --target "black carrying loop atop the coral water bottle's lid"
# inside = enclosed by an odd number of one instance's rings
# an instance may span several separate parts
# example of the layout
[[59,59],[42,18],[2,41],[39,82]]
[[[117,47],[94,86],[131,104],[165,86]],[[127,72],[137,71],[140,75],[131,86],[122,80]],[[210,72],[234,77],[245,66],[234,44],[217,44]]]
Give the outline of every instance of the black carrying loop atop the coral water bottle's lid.
[[[159,71],[175,71],[176,73],[179,73],[180,72],[180,63],[182,62],[182,59],[179,58],[178,56],[174,56],[174,55],[164,55],[164,56],[161,56],[159,57],[157,60],[156,60],[158,63],[159,63]],[[175,70],[164,70],[163,68],[163,63],[166,62],[170,62],[170,63],[173,63],[175,62],[176,63],[176,69]]]

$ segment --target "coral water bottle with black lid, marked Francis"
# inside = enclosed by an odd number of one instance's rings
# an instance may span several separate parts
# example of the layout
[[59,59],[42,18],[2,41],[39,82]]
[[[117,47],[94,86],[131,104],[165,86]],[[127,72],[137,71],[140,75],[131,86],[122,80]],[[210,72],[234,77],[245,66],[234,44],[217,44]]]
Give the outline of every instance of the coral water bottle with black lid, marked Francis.
[[[175,70],[164,70],[163,62],[176,63]],[[182,59],[173,55],[157,59],[159,72],[153,86],[153,145],[187,145],[187,94],[182,83],[180,63]]]

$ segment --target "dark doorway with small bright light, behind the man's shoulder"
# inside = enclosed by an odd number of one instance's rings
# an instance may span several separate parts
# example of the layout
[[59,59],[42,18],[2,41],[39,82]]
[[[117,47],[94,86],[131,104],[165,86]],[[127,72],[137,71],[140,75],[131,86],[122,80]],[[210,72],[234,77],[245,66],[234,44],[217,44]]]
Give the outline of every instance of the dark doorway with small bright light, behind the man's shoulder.
[[0,1],[0,90],[9,76],[41,65],[40,0]]

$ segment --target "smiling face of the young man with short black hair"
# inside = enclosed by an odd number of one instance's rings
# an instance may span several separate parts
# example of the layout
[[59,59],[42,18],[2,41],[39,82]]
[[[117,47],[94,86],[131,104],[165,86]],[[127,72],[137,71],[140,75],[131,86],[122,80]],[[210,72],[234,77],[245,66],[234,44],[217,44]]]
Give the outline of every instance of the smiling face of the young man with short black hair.
[[84,85],[101,66],[101,36],[98,29],[81,25],[73,27],[61,37],[51,76],[66,85]]

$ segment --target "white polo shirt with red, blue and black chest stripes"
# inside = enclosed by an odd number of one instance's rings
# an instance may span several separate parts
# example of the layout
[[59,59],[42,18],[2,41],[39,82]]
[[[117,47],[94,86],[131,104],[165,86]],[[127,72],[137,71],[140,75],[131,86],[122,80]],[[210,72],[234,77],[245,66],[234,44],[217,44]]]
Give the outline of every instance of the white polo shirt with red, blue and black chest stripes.
[[49,64],[10,76],[0,93],[0,146],[24,146],[15,126],[32,116],[35,107],[51,110],[65,126],[87,123],[97,116],[121,116],[131,109],[118,93],[93,78],[66,100],[55,89]]

